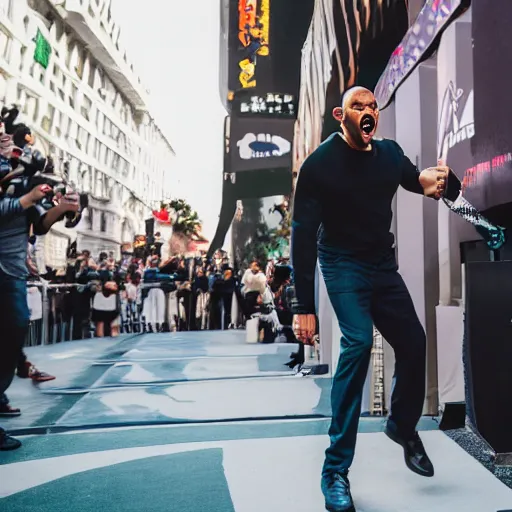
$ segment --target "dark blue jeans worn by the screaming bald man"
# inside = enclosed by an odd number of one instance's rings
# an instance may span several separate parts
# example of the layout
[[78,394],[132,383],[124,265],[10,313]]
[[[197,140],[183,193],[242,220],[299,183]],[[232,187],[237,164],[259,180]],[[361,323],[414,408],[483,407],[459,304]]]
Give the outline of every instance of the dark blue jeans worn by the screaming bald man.
[[323,471],[346,474],[354,459],[374,325],[395,351],[388,422],[406,437],[414,433],[425,400],[425,331],[398,273],[393,250],[357,256],[321,246],[318,256],[342,332],[331,393],[331,445]]

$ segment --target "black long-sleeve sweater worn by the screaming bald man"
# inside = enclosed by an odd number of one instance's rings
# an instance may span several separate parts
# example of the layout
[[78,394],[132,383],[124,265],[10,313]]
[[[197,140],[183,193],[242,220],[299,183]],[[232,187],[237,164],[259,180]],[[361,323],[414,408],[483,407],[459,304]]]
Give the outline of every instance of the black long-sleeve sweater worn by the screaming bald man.
[[416,166],[387,139],[357,151],[336,133],[304,161],[292,219],[295,313],[315,313],[317,242],[350,253],[391,248],[393,197],[400,185],[423,194],[418,178]]

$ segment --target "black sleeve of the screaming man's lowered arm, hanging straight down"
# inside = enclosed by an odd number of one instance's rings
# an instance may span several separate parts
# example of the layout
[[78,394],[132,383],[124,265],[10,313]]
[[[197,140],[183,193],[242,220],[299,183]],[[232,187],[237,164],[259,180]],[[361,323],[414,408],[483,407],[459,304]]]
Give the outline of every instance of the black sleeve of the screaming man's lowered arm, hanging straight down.
[[307,161],[302,166],[293,204],[291,260],[293,266],[295,314],[315,314],[315,270],[317,233],[321,223],[321,206],[315,169]]

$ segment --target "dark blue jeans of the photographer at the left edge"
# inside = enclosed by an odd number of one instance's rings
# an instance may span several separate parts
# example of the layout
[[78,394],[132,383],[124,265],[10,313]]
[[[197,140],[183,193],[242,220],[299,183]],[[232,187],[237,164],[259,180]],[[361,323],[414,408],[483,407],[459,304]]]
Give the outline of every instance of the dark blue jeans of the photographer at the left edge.
[[[0,396],[11,385],[20,351],[27,335],[30,313],[27,304],[27,282],[0,270]],[[1,430],[1,429],[0,429]]]

